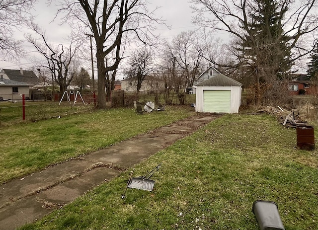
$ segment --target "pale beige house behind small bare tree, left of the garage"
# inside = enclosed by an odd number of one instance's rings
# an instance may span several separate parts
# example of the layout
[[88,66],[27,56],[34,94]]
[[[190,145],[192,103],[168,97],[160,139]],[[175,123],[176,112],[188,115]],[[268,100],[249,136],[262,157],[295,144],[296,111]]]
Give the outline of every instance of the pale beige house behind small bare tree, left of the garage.
[[[164,88],[164,82],[157,77],[145,76],[142,82],[140,93],[147,93]],[[136,77],[129,77],[121,81],[121,89],[125,92],[137,92],[137,79]]]

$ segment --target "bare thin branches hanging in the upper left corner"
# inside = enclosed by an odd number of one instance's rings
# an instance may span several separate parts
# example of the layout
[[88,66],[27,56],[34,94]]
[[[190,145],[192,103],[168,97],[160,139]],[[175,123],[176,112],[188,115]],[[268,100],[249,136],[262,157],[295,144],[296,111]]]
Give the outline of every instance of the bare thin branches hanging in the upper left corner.
[[29,10],[36,0],[0,1],[0,56],[16,58],[22,55],[21,41],[13,36],[14,29],[21,28],[29,21]]

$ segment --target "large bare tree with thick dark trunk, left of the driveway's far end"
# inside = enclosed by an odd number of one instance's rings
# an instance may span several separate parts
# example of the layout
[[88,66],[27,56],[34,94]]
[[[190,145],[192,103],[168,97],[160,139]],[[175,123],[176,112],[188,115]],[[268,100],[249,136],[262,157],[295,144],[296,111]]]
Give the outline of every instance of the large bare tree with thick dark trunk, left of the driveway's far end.
[[[149,12],[145,0],[70,0],[63,3],[60,11],[68,12],[65,17],[71,22],[76,18],[83,30],[89,28],[96,44],[98,73],[97,107],[106,108],[105,84],[108,72],[115,71],[122,59],[121,48],[127,34],[138,38],[142,43],[149,43],[152,24],[159,20]],[[78,24],[77,24],[78,26]],[[83,31],[84,32],[84,31]],[[110,55],[113,62],[105,64]],[[110,75],[108,74],[110,77]],[[111,86],[108,86],[111,88]]]

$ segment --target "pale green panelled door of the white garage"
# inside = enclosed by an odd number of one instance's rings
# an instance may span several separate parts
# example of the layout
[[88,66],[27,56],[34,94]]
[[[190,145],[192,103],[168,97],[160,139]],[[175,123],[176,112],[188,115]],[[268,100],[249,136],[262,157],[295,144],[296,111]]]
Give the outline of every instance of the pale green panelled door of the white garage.
[[230,90],[204,90],[203,112],[230,113],[231,91]]

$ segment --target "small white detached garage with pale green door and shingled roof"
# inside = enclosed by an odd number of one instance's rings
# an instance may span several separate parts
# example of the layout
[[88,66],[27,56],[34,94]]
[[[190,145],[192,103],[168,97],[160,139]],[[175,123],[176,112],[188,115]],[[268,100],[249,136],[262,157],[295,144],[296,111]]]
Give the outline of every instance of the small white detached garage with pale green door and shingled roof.
[[238,113],[242,84],[218,74],[196,85],[197,112]]

